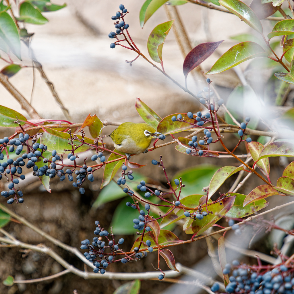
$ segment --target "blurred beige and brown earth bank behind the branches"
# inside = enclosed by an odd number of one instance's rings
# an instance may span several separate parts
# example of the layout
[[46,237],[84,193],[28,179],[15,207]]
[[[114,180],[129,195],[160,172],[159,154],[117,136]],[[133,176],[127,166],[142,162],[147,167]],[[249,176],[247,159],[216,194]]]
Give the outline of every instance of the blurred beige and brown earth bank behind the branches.
[[[59,0],[54,2],[63,4]],[[161,117],[179,112],[187,113],[192,111],[195,113],[199,110],[199,103],[194,98],[184,93],[142,58],[136,60],[133,66],[130,67],[125,60],[135,58],[136,55],[133,52],[119,46],[115,49],[109,48],[111,40],[107,35],[114,30],[111,16],[118,11],[121,1],[69,0],[66,3],[68,4],[66,8],[45,14],[49,19],[49,23],[43,26],[26,24],[26,29],[30,33],[35,33],[31,47],[49,80],[54,83],[56,92],[59,94],[64,106],[69,110],[69,114],[73,119],[72,122],[83,122],[89,113],[91,115],[96,113],[102,121],[143,122],[135,109],[137,96]],[[143,1],[125,0],[123,4],[129,11],[126,16],[126,22],[130,25],[129,32],[137,46],[148,56],[146,40],[149,33],[157,24],[168,20],[164,8],[158,9],[142,30],[139,26],[138,13]],[[223,54],[228,48],[236,44],[235,41],[230,39],[230,36],[240,33],[252,33],[250,27],[231,14],[212,11],[190,3],[178,6],[178,11],[193,46],[205,41],[225,40],[218,51],[203,63],[205,71],[210,69],[220,54]],[[265,31],[269,30],[269,21],[263,20],[262,23]],[[172,30],[163,47],[163,60],[166,72],[181,84],[184,84],[182,74],[183,57],[178,49]],[[28,66],[31,65],[25,46],[23,46],[23,63]],[[242,69],[244,70],[248,64],[248,62],[242,64]],[[4,61],[0,61],[1,67],[5,65]],[[250,70],[247,73],[250,76]],[[212,80],[218,88],[220,96],[225,101],[233,88],[240,83],[238,75],[233,70],[213,76]],[[32,97],[33,70],[31,67],[22,68],[10,79],[10,82],[31,102],[42,118],[64,119],[64,115],[55,103],[49,88],[36,70]],[[190,90],[196,93],[199,91],[192,76],[188,78],[188,85]],[[292,96],[294,97],[294,95]],[[2,86],[0,86],[0,104],[13,108],[29,118],[18,102]],[[289,104],[289,106],[293,105]],[[114,128],[113,126],[107,126],[103,133],[108,135]],[[14,130],[1,128],[0,132],[0,137],[3,138],[11,135]],[[90,136],[89,133],[86,135]],[[181,136],[186,135],[188,133],[181,133]],[[256,140],[257,137],[252,139]],[[166,141],[170,140],[171,138],[167,136]],[[224,140],[229,149],[232,149],[238,143],[238,138],[230,134],[225,134]],[[106,141],[106,143],[111,144],[111,140]],[[216,145],[214,150],[222,150],[219,144],[214,145]],[[138,173],[152,178],[156,183],[167,188],[162,169],[151,165],[151,160],[153,158],[158,159],[160,155],[163,155],[163,161],[170,179],[184,168],[202,164],[219,167],[239,166],[239,162],[235,159],[191,158],[177,152],[174,147],[175,145],[169,145],[134,157],[133,161],[147,164],[138,170]],[[241,144],[236,154],[246,153],[244,145]],[[277,179],[282,176],[283,168],[289,162],[290,159],[288,160],[288,158],[283,158],[283,160],[270,158],[270,163],[272,164],[271,180],[273,183],[276,183]],[[24,168],[24,174],[29,172],[32,171],[27,171]],[[51,194],[44,191],[41,183],[36,181],[24,189],[25,203],[22,205],[16,205],[15,203],[9,208],[20,216],[24,216],[46,233],[66,244],[79,248],[81,240],[86,238],[91,240],[94,237],[95,220],[99,220],[104,228],[109,229],[113,211],[122,201],[117,199],[103,204],[97,209],[91,209],[92,204],[100,193],[102,172],[96,172],[94,177],[95,181],[91,185],[86,181],[86,185],[84,185],[86,192],[83,195],[80,195],[67,179],[61,183],[59,178],[54,178],[51,181]],[[230,177],[220,189],[220,192],[228,191],[235,179],[236,176]],[[1,189],[3,190],[4,178],[1,183]],[[261,180],[252,176],[246,186],[239,190],[239,193],[249,193],[253,187],[261,184],[263,184]],[[270,205],[268,208],[288,202],[288,198],[273,196],[269,198]],[[6,204],[5,198],[0,199],[0,201]],[[225,220],[223,222],[225,223]],[[55,247],[26,226],[10,222],[4,229],[23,242],[46,244],[69,263],[83,270],[81,260],[61,248]],[[191,238],[191,235],[186,235],[180,226],[176,226],[173,232],[181,240]],[[117,240],[121,237],[125,239],[121,247],[126,250],[131,248],[135,236],[116,236]],[[270,248],[266,246],[256,248],[256,250],[270,254]],[[207,255],[206,240],[175,246],[172,252],[176,262],[193,267]],[[151,263],[156,264],[156,260],[157,254],[148,254],[147,258],[134,263],[126,265],[121,263],[112,264],[107,268],[107,271],[134,273],[152,271]],[[255,261],[252,260],[252,262]],[[168,269],[163,260],[161,266],[163,270]],[[29,250],[20,250],[18,247],[0,248],[1,280],[4,280],[7,275],[13,275],[17,280],[34,279],[55,274],[61,270],[63,268],[47,255]],[[88,268],[88,271],[92,272],[92,269]],[[77,289],[78,294],[111,294],[122,283],[124,282],[116,280],[83,280],[72,274],[67,274],[54,281],[42,283],[14,285],[12,287],[6,287],[0,283],[0,293],[68,294]],[[161,293],[167,287],[167,283],[159,281],[142,281],[141,291],[148,289],[153,293]]]

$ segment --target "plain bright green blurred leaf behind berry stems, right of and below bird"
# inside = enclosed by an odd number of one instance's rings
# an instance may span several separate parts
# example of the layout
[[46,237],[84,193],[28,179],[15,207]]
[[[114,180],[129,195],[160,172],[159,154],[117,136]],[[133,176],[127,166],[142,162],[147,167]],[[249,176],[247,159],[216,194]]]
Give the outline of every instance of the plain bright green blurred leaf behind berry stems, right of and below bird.
[[[202,164],[191,168],[186,168],[173,176],[173,179],[182,178],[182,183],[186,185],[181,191],[180,199],[191,194],[202,194],[203,187],[207,187],[214,173],[219,169],[218,166]],[[176,188],[174,181],[171,181],[173,188]],[[182,200],[181,200],[182,201]]]

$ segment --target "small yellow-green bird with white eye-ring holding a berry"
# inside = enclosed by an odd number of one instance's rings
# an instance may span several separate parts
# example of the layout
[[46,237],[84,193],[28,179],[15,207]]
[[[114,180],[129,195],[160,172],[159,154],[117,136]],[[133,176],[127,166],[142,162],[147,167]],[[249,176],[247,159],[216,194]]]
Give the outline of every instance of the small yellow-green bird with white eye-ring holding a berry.
[[152,138],[165,139],[162,133],[147,123],[122,123],[110,135],[116,150],[124,152],[128,158],[130,154],[147,153]]

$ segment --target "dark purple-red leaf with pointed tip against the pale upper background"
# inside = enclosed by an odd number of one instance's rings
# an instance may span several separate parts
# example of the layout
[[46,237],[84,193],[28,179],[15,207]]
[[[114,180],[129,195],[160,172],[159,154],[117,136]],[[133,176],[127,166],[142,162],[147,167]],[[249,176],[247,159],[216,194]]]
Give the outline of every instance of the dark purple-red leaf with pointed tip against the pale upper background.
[[186,56],[183,63],[183,73],[187,78],[188,73],[196,66],[201,64],[206,58],[211,56],[213,52],[224,40],[218,42],[206,42],[197,45]]

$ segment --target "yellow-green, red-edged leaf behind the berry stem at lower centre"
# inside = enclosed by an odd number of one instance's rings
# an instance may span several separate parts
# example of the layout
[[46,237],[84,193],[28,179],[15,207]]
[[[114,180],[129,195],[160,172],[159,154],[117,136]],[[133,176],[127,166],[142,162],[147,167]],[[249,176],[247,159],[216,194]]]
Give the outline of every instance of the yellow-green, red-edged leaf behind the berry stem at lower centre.
[[[149,225],[149,223],[148,223],[148,225]],[[153,247],[153,246],[156,246],[157,244],[154,242],[153,238],[151,237],[151,233],[154,236],[153,231],[146,232],[144,234],[143,241],[146,243],[147,240],[150,240],[151,247]],[[133,251],[135,247],[138,247],[138,245],[141,242],[141,238],[142,238],[142,236],[140,236],[136,239],[131,251]],[[160,233],[158,235],[158,245],[168,245],[168,244],[176,243],[176,242],[181,242],[181,240],[179,240],[179,238],[174,233],[172,233],[171,231],[168,231],[168,230],[160,230]],[[142,244],[140,247],[140,250],[141,249],[148,250],[148,247],[146,245]],[[156,251],[156,250],[157,250],[156,248],[153,249],[153,251]]]

